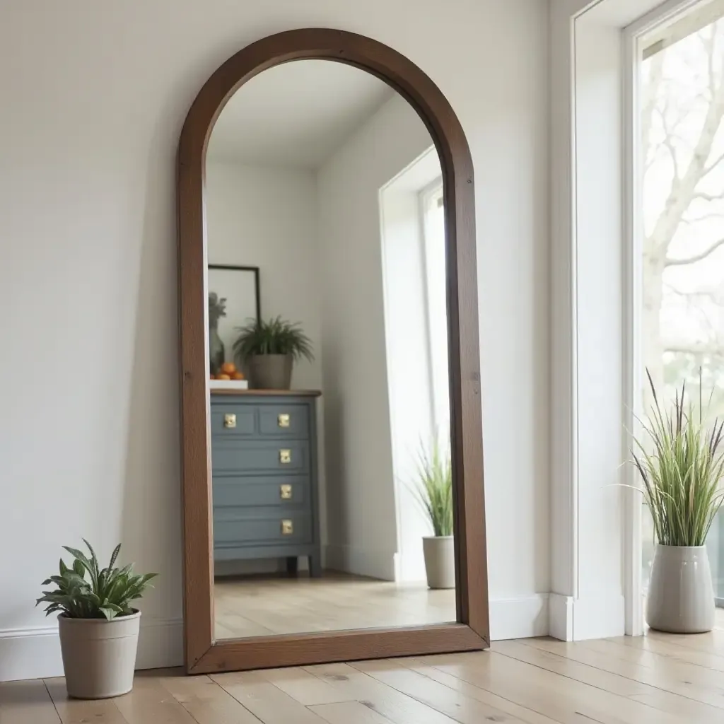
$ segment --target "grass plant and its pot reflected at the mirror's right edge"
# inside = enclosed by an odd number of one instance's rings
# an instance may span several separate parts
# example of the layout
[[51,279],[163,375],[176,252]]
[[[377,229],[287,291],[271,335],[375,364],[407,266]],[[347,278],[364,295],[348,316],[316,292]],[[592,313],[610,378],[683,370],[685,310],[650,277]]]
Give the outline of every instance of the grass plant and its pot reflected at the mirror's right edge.
[[450,455],[440,450],[418,454],[417,494],[432,525],[432,536],[422,539],[427,585],[431,589],[455,588],[455,546],[452,537],[452,466]]

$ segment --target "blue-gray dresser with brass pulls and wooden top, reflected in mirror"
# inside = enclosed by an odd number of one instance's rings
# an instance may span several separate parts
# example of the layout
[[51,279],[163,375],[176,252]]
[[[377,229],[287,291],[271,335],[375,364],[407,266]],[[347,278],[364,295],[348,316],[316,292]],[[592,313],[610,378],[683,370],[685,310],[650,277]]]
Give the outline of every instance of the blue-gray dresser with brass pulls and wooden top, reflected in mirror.
[[319,392],[211,391],[214,560],[277,558],[321,575]]

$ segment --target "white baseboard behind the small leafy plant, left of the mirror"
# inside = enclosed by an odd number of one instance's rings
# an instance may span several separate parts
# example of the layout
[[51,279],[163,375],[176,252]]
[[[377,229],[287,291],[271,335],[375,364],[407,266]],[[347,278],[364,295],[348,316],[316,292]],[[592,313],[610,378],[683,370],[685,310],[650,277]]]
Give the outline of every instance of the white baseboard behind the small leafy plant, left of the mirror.
[[[180,619],[141,619],[137,669],[180,666],[183,624]],[[63,675],[57,626],[0,631],[0,681]]]

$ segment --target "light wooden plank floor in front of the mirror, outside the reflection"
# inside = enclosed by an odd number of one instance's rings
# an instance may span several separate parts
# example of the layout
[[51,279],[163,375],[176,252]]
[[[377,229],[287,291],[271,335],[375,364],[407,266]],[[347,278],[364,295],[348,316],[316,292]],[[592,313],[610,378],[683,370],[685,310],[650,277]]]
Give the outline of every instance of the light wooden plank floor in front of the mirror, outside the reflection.
[[[724,623],[724,620],[721,620]],[[722,724],[724,626],[489,652],[185,677],[67,699],[62,679],[0,684],[1,724]]]

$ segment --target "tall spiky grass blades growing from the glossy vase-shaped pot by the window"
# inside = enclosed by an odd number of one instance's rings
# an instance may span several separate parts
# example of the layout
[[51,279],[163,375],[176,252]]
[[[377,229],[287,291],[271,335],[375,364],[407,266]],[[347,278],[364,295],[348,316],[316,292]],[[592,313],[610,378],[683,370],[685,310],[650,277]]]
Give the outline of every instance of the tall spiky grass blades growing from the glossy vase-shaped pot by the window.
[[720,487],[724,421],[715,419],[711,426],[704,421],[701,374],[698,411],[686,401],[686,384],[682,384],[681,394],[676,392],[673,408],[666,413],[648,370],[647,376],[654,402],[648,420],[640,421],[644,439],[634,437],[636,452],[631,452],[656,540],[660,545],[702,546],[724,497]]

